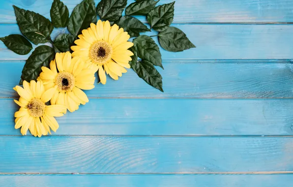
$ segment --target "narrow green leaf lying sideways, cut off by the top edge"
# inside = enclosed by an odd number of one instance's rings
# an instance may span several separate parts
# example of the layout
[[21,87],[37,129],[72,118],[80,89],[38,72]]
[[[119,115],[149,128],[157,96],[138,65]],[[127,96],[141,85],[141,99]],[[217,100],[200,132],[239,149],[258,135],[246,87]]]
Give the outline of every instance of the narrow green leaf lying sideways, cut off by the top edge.
[[150,10],[152,10],[159,0],[143,0],[138,2],[133,2],[125,9],[125,15],[146,15]]

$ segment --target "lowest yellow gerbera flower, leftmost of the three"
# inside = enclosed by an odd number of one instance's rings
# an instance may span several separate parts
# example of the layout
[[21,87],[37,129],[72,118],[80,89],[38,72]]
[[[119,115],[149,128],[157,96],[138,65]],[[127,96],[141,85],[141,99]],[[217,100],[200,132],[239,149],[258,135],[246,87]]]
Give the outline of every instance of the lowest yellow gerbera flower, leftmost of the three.
[[45,91],[41,81],[23,82],[24,88],[16,86],[13,88],[19,95],[19,100],[15,100],[21,108],[15,112],[15,128],[20,128],[23,135],[30,133],[34,136],[41,137],[42,135],[51,134],[50,128],[56,132],[59,125],[54,117],[63,116],[66,112],[66,107],[63,105],[46,105],[52,95],[54,89]]

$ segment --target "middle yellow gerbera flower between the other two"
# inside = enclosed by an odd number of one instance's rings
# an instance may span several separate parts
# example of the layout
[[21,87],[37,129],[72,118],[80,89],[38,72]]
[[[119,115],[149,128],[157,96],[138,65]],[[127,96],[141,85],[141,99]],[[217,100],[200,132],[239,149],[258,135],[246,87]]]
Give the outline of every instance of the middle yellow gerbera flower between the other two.
[[81,89],[94,88],[94,72],[79,57],[71,59],[69,52],[56,53],[55,60],[50,62],[50,69],[43,66],[38,79],[43,81],[46,90],[54,89],[51,104],[65,105],[70,112],[74,112],[80,104],[88,102],[87,95]]

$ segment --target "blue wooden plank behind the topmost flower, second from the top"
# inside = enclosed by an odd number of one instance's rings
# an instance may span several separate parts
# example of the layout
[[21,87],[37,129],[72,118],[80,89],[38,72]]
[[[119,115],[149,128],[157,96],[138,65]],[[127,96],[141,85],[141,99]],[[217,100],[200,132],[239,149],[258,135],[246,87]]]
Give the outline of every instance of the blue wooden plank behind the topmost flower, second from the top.
[[[160,47],[163,60],[293,59],[293,25],[290,24],[173,24],[172,26],[184,31],[197,48],[174,53]],[[54,30],[52,37],[65,31],[65,29]],[[16,24],[0,24],[1,37],[11,33],[20,33]],[[156,33],[153,31],[146,34]],[[154,40],[159,44],[156,37]],[[26,60],[29,55],[17,55],[0,42],[0,60]]]

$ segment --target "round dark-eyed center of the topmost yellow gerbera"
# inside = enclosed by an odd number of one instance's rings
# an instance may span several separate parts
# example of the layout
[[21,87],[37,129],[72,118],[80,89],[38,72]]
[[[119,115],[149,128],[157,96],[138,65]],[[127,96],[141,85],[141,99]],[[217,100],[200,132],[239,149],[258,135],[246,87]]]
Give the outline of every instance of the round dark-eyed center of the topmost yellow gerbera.
[[104,64],[111,59],[112,47],[105,41],[96,41],[89,47],[88,56],[91,62],[96,64]]

